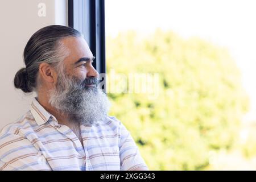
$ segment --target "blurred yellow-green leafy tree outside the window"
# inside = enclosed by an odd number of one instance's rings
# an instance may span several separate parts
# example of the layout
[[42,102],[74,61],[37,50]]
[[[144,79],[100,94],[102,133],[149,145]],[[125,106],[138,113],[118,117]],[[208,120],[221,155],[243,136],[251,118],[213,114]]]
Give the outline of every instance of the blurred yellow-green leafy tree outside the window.
[[159,73],[155,100],[109,93],[110,115],[130,130],[150,169],[207,169],[209,151],[233,147],[248,103],[226,49],[161,30],[123,32],[106,48],[107,72]]

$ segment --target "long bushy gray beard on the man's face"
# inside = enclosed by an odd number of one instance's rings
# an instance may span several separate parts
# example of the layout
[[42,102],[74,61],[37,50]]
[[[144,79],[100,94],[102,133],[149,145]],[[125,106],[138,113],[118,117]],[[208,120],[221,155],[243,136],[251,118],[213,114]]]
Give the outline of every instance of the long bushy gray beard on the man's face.
[[82,85],[75,77],[59,77],[49,96],[49,104],[67,115],[69,122],[93,125],[104,121],[108,115],[110,103],[106,94],[97,85]]

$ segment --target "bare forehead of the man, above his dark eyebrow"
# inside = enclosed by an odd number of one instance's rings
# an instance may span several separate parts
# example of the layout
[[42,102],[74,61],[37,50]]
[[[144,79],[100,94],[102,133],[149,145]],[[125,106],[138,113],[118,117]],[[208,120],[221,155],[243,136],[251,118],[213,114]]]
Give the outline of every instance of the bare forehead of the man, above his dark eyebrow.
[[93,54],[90,51],[88,44],[81,37],[68,37],[62,40],[65,48],[69,52],[68,56],[64,61],[72,63],[81,59],[82,57],[87,57],[93,59]]

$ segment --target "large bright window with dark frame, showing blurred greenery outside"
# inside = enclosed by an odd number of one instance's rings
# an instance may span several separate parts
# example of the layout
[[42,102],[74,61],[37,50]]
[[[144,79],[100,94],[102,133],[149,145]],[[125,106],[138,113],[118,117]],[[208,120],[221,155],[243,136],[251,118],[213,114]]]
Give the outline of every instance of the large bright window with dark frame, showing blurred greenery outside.
[[256,169],[254,1],[69,2],[150,169]]

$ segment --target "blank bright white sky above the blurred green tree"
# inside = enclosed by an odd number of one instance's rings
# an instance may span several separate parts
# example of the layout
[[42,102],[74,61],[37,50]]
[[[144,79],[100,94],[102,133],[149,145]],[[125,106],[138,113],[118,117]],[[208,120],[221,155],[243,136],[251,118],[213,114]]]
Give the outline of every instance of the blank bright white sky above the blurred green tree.
[[106,0],[106,35],[160,27],[228,47],[242,73],[256,118],[255,0]]

